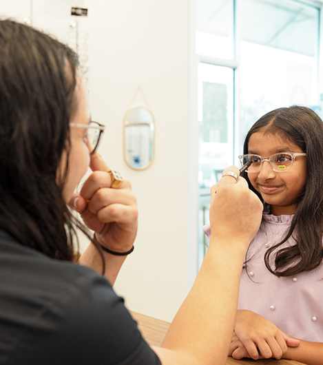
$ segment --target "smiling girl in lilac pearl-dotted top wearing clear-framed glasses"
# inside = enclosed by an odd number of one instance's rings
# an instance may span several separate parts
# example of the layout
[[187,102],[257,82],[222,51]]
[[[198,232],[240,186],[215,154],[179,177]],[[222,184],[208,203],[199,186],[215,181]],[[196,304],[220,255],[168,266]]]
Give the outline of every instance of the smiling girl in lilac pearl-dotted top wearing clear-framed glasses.
[[273,110],[251,127],[239,158],[252,161],[244,178],[264,212],[242,271],[229,355],[322,364],[323,123],[307,107]]

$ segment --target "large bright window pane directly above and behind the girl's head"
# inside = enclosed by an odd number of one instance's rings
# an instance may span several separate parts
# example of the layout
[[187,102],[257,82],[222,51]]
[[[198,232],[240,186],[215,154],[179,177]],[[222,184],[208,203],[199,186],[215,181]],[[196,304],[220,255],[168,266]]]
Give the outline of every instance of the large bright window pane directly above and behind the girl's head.
[[319,10],[290,1],[242,0],[240,152],[260,116],[318,104]]

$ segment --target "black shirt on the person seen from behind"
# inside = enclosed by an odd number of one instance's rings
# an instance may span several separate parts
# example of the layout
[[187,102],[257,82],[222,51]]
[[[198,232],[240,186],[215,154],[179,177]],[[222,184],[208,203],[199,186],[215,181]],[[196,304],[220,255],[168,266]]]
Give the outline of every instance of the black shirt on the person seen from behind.
[[0,230],[0,364],[156,364],[111,284]]

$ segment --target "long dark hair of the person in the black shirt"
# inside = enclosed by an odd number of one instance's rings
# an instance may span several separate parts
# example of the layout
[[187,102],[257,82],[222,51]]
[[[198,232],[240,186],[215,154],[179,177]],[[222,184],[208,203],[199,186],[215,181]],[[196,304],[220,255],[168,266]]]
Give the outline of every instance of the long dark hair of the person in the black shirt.
[[78,58],[10,20],[0,21],[0,54],[0,227],[51,258],[72,260],[74,218],[62,196],[67,163],[61,176],[57,169],[70,149]]

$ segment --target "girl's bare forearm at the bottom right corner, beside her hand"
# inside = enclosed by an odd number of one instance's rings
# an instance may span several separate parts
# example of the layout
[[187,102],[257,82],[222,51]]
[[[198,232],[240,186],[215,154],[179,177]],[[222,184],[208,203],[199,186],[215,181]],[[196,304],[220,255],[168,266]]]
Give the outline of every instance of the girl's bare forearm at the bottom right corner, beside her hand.
[[284,359],[304,362],[308,365],[323,364],[323,344],[320,342],[300,341],[300,346],[289,347],[283,355]]

